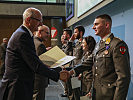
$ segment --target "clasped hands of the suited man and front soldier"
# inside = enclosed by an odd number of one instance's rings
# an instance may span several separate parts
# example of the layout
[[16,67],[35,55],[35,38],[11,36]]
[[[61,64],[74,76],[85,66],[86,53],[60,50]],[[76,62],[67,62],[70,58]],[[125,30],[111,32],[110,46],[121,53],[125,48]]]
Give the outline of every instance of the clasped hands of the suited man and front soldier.
[[73,70],[71,71],[67,71],[67,70],[62,70],[60,71],[60,80],[66,82],[68,80],[68,78],[74,74]]

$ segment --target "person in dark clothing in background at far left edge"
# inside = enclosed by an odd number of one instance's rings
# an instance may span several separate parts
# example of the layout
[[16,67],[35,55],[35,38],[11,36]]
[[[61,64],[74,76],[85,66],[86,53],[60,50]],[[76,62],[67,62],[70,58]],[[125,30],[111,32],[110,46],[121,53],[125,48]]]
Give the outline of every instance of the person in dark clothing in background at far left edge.
[[3,38],[3,42],[0,45],[0,80],[2,79],[5,72],[5,56],[6,56],[6,48],[7,48],[8,39]]

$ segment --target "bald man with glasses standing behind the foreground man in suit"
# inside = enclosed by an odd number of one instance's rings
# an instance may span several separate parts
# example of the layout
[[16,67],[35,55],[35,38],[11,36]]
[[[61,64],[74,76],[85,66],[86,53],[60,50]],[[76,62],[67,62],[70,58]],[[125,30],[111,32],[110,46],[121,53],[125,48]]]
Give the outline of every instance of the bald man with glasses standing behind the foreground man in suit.
[[[42,25],[38,27],[38,31],[34,36],[34,44],[36,49],[36,54],[40,56],[47,51],[43,41],[47,41],[50,35],[49,27]],[[45,88],[48,86],[48,78],[39,74],[35,74],[34,82],[34,94],[33,100],[45,100]]]

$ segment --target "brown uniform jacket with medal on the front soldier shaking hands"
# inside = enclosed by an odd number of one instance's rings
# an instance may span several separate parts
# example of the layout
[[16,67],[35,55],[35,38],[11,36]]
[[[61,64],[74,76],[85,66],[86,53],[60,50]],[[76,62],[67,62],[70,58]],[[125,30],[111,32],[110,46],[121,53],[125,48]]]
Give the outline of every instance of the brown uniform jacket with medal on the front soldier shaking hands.
[[[130,59],[126,43],[110,34],[98,43],[78,74],[93,65],[93,100],[126,100],[130,83]],[[84,66],[84,68],[82,67]]]

